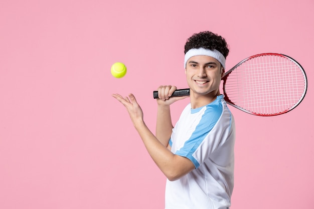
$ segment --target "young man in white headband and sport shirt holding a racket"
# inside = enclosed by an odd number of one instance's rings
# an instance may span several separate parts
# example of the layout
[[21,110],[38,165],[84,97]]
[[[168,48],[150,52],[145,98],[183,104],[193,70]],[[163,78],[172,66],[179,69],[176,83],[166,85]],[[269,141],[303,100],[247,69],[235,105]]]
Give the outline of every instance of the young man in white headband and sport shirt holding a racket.
[[219,91],[228,53],[217,34],[201,32],[188,39],[190,103],[173,127],[170,105],[187,96],[171,97],[177,88],[160,86],[155,136],[134,95],[112,95],[126,107],[148,153],[167,177],[166,209],[222,209],[231,204],[235,125]]

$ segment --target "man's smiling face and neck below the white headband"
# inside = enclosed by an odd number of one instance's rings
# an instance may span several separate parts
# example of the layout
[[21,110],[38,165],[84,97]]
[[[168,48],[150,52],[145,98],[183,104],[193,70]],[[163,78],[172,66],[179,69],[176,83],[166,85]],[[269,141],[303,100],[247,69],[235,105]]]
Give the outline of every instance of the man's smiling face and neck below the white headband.
[[203,55],[191,57],[186,67],[191,102],[198,98],[213,101],[220,94],[219,86],[223,75],[223,67],[215,58]]

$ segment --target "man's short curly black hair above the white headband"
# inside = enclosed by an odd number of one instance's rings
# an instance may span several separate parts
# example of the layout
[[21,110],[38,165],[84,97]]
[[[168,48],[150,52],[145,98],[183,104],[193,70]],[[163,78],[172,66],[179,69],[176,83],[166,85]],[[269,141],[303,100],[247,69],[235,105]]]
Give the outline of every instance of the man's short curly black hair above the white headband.
[[190,49],[204,48],[209,50],[218,50],[226,58],[229,54],[227,42],[221,36],[209,31],[200,32],[191,36],[184,46],[184,54]]

